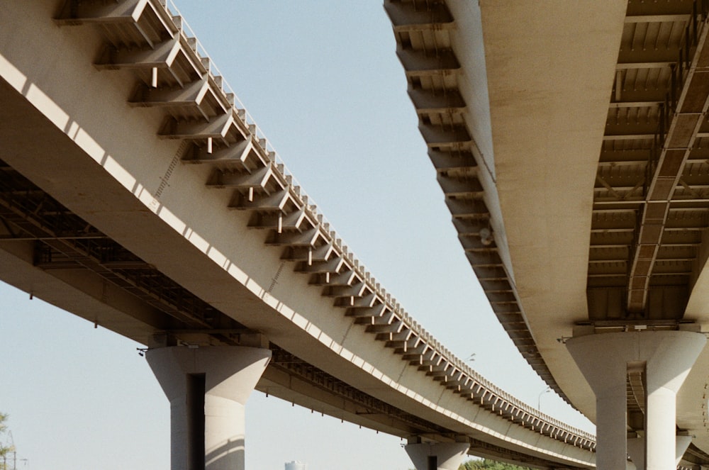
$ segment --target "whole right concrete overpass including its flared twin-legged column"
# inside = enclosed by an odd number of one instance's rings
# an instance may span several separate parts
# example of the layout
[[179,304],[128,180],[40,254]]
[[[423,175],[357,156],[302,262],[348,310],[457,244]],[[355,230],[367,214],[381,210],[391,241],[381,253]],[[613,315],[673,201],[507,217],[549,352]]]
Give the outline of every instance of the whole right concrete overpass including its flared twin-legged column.
[[598,425],[598,467],[674,468],[691,441],[704,468],[707,2],[386,10],[471,266]]

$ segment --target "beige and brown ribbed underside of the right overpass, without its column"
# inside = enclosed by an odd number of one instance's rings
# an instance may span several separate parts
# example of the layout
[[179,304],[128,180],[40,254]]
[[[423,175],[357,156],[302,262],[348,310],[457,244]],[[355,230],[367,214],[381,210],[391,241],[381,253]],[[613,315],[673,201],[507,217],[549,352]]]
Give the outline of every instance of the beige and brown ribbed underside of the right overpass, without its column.
[[[595,399],[566,337],[705,330],[709,319],[707,5],[567,7],[532,15],[483,4],[482,14],[491,26],[493,146],[513,276],[554,378],[593,419]],[[554,19],[569,17],[578,23]],[[534,40],[540,31],[545,39]],[[603,37],[571,40],[593,32]],[[681,389],[677,416],[705,450],[706,356]],[[627,372],[628,423],[641,434],[643,374]],[[705,461],[691,452],[689,461]]]

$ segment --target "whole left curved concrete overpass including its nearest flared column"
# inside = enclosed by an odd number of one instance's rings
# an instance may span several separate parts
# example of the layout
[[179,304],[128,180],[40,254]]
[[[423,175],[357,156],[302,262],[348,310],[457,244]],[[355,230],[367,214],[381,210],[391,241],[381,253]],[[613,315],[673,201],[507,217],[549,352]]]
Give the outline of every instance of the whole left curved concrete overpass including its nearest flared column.
[[[592,436],[489,384],[376,283],[174,9],[0,13],[1,279],[150,346],[174,405],[174,468],[240,464],[246,376],[410,437],[427,463],[450,451],[593,466]],[[237,359],[217,366],[216,349]]]

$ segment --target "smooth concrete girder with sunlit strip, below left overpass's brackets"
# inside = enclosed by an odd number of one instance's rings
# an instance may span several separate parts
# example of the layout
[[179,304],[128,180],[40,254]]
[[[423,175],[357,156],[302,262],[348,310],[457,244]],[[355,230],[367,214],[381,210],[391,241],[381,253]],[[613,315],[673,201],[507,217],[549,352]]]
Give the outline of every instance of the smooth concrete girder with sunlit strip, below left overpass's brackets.
[[[215,308],[338,379],[455,434],[559,464],[592,466],[592,454],[582,448],[592,447],[591,436],[572,435],[561,423],[530,417],[530,407],[487,384],[401,313],[358,262],[347,257],[375,296],[386,299],[390,313],[399,315],[396,321],[442,357],[435,363],[442,367],[442,381],[391,354],[374,335],[363,334],[342,308],[333,306],[332,298],[320,295],[320,287],[308,284],[307,276],[284,269],[291,264],[281,259],[282,247],[264,247],[263,232],[248,228],[249,214],[228,211],[233,194],[204,184],[211,169],[175,165],[185,147],[180,140],[156,138],[162,110],[128,106],[135,72],[99,71],[91,65],[104,44],[98,30],[52,22],[62,3],[23,2],[22,8],[7,0],[0,3],[4,22],[12,25],[0,32],[3,160]],[[165,16],[157,2],[126,3]],[[238,121],[237,110],[228,112]],[[263,149],[259,152],[268,159]],[[332,236],[322,225],[317,228],[323,230],[320,236]],[[30,292],[41,289],[31,281],[16,284]],[[102,297],[105,291],[96,293]],[[70,298],[48,300],[71,304]],[[125,310],[130,310],[129,303],[125,301]],[[85,317],[147,342],[149,332],[130,332],[111,318],[114,313],[104,318],[102,310],[86,310]],[[486,392],[479,399],[491,404],[492,413],[466,399],[476,398],[481,386]],[[511,413],[510,418],[504,413]],[[516,424],[515,418],[532,428]]]

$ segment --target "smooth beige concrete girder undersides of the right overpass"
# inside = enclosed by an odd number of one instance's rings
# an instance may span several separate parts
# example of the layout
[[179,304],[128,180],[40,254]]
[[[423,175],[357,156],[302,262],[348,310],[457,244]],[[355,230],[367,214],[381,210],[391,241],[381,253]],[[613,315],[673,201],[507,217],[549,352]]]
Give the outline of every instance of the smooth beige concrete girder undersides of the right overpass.
[[[473,38],[470,43],[484,39],[484,57],[464,52],[465,43],[452,40],[452,47],[468,80],[461,81],[469,87],[461,94],[479,93],[481,98],[469,101],[468,112],[483,126],[469,124],[469,130],[481,150],[492,152],[485,156],[486,171],[478,174],[491,218],[502,220],[498,224],[504,228],[495,227],[496,247],[553,377],[540,374],[595,420],[593,392],[563,343],[574,323],[588,318],[593,185],[627,1],[583,6],[564,0],[442,3],[457,23],[452,30]],[[462,58],[466,55],[469,63]],[[709,322],[708,259],[709,253],[702,252],[696,260],[700,275],[685,315],[702,330]],[[513,332],[510,337],[515,339]],[[525,345],[518,347],[523,355],[527,352]],[[679,392],[677,410],[678,426],[705,452],[707,370],[705,349]]]

